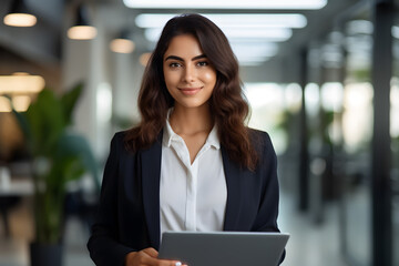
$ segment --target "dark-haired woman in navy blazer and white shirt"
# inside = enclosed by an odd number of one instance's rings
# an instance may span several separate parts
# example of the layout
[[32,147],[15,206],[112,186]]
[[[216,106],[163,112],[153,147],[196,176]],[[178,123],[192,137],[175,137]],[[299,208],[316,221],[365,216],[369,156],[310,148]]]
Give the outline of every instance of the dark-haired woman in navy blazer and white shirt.
[[212,21],[166,23],[139,108],[139,126],[111,143],[88,243],[96,265],[178,265],[157,259],[165,231],[278,232],[276,155],[245,126],[238,64]]

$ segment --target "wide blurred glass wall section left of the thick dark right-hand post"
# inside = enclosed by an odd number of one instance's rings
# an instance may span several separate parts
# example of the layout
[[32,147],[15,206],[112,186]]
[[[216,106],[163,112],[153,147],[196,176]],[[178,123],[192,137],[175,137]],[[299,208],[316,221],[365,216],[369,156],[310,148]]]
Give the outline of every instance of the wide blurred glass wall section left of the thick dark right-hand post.
[[307,60],[310,212],[323,223],[325,205],[339,203],[340,246],[352,266],[372,262],[370,20],[369,9],[345,18],[310,45]]

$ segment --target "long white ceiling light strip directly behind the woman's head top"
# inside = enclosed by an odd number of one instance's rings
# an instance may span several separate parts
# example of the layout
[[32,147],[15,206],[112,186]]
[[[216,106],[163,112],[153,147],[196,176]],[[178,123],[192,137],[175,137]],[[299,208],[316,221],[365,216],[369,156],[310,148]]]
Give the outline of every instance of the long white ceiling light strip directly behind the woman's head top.
[[[135,23],[140,28],[162,28],[177,14],[139,14]],[[274,14],[245,14],[245,13],[202,13],[218,27],[229,28],[304,28],[307,24],[306,17],[298,13]]]

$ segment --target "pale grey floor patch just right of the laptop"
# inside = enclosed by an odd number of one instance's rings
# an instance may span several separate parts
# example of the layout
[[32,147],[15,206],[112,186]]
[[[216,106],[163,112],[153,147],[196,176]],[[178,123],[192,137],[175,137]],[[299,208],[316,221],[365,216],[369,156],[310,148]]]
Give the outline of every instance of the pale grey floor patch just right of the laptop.
[[290,233],[283,266],[347,266],[339,250],[338,206],[325,206],[324,223],[295,206],[291,197],[282,195],[279,227]]

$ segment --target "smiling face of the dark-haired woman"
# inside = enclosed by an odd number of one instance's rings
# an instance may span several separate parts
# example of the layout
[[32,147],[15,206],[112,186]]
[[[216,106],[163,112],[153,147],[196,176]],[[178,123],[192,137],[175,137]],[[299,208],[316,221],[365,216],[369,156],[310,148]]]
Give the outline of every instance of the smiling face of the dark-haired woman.
[[216,84],[216,70],[191,34],[172,39],[163,58],[163,72],[175,106],[202,106]]

